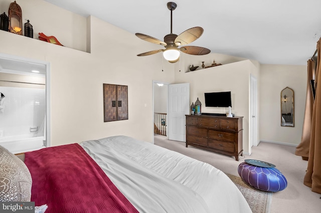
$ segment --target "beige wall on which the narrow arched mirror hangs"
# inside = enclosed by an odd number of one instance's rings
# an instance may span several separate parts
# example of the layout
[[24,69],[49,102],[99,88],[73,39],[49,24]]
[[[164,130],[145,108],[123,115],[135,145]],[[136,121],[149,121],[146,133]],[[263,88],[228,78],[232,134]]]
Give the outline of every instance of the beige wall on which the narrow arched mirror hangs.
[[[301,141],[305,109],[307,67],[305,65],[261,65],[261,141],[297,145]],[[281,90],[294,90],[294,127],[281,126]]]

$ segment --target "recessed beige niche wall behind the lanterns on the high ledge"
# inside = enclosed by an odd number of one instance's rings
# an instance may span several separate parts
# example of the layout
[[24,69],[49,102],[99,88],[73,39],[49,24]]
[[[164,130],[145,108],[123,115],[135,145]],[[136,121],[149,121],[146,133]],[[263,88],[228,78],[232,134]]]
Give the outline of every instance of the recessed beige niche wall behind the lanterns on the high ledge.
[[[6,12],[14,0],[1,0],[0,12]],[[22,9],[22,24],[29,19],[33,25],[34,38],[43,32],[47,36],[54,35],[60,43],[74,49],[86,51],[86,17],[48,3],[44,0],[17,0]]]

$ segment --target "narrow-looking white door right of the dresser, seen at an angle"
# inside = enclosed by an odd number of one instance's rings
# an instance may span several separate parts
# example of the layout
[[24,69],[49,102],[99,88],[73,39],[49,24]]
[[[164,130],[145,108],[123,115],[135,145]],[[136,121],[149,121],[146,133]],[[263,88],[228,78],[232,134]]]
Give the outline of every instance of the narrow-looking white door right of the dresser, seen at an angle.
[[[257,145],[257,85],[256,78],[251,75],[251,109],[250,109],[250,149],[253,145]],[[251,151],[250,151],[251,152]]]

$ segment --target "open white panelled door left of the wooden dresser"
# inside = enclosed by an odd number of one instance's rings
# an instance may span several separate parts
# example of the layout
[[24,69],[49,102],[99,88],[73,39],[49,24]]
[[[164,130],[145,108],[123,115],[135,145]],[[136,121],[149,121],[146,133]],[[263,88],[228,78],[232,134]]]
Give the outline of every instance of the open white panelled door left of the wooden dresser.
[[190,112],[190,83],[169,85],[169,126],[170,140],[186,141],[186,118]]

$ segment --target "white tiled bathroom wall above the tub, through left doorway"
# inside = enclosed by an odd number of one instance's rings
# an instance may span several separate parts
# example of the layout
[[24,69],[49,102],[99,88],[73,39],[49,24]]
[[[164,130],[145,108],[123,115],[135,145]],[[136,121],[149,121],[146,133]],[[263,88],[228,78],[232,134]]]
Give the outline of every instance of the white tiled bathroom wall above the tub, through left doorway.
[[0,92],[5,95],[0,107],[0,141],[44,136],[45,89],[0,86]]

